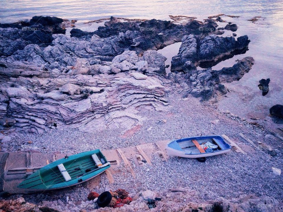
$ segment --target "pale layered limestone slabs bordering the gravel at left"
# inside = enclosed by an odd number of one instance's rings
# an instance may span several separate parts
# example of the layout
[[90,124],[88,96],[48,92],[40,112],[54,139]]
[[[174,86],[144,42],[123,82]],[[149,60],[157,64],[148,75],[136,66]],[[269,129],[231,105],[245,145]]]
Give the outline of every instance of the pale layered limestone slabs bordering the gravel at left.
[[31,132],[65,125],[83,130],[129,128],[141,122],[137,107],[161,110],[167,105],[160,80],[137,80],[130,73],[10,78],[0,90],[1,107],[17,121],[14,126]]

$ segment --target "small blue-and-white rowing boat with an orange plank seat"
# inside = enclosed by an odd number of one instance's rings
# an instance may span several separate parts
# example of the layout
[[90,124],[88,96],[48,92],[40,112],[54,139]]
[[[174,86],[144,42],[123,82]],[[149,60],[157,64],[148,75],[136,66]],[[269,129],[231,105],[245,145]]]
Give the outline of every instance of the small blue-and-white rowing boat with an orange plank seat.
[[[208,148],[204,150],[202,145],[210,142],[218,147],[215,149]],[[219,155],[231,150],[231,145],[224,139],[217,136],[202,136],[172,140],[166,145],[167,155],[178,156],[183,158],[203,158],[213,155]]]

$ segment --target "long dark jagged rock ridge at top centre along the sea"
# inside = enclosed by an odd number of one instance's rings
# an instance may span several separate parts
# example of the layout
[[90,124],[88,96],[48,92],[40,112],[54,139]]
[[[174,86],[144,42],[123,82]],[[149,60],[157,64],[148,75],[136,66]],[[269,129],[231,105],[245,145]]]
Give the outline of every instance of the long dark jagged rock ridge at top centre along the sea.
[[171,21],[147,20],[147,21],[127,21],[121,22],[115,17],[105,23],[105,27],[98,27],[94,32],[83,32],[79,29],[71,30],[71,37],[90,38],[93,34],[101,38],[119,36],[120,33],[128,34],[124,39],[125,48],[136,51],[140,56],[143,52],[153,49],[158,50],[163,47],[180,42],[183,35],[198,34],[208,35],[216,32],[217,24],[213,20],[201,23],[190,21],[185,25],[174,24]]

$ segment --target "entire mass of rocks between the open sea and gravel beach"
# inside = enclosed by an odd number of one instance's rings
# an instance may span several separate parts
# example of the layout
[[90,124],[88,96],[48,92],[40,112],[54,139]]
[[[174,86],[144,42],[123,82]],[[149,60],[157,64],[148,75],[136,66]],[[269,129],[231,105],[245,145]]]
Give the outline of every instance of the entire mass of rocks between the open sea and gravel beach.
[[[196,70],[200,62],[216,62],[248,47],[247,36],[236,41],[209,35],[218,32],[213,19],[181,25],[111,17],[95,32],[72,29],[70,38],[57,34],[65,32],[62,22],[35,16],[29,23],[0,25],[0,114],[20,130],[129,128],[141,122],[137,107],[168,105],[166,93],[179,81],[184,95],[209,100],[225,94],[221,83],[239,80],[254,63],[246,57],[231,68]],[[166,57],[156,50],[181,39],[166,77]]]

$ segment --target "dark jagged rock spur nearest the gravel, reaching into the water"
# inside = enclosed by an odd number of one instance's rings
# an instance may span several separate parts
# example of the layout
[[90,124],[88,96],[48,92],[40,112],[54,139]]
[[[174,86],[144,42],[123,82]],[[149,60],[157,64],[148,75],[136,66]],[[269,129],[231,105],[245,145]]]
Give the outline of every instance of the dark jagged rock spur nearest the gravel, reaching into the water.
[[218,91],[226,94],[228,90],[222,83],[241,79],[246,72],[249,72],[253,64],[254,59],[252,57],[245,57],[234,64],[233,67],[225,67],[221,70],[210,68],[194,69],[186,73],[170,73],[169,78],[182,86],[185,97],[190,94],[194,97],[200,97],[202,100],[209,100]]

